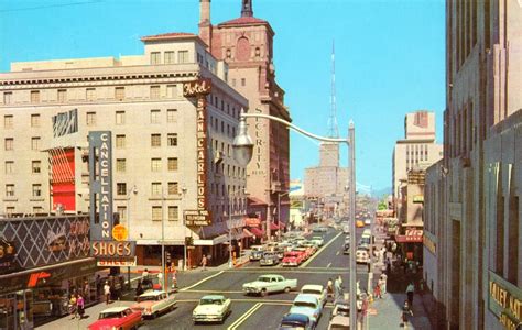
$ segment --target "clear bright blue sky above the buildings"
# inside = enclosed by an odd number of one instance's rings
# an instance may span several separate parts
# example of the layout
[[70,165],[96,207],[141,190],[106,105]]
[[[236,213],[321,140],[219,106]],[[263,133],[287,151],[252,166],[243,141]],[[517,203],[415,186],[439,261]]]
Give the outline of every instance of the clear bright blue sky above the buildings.
[[[211,20],[240,14],[241,0],[213,0]],[[11,62],[141,54],[140,36],[197,33],[198,0],[0,0],[0,70]],[[336,44],[338,123],[356,124],[357,182],[391,186],[404,114],[445,107],[443,0],[253,0],[275,31],[276,79],[295,124],[327,133],[330,52]],[[341,164],[347,164],[342,147]],[[291,135],[291,177],[318,162],[316,144]]]

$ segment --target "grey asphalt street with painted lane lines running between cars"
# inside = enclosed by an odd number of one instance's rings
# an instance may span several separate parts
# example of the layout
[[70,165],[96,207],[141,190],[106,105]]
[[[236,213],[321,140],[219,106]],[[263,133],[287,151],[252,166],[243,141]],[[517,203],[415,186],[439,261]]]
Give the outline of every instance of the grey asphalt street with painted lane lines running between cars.
[[[362,229],[358,230],[358,237]],[[314,233],[314,235],[317,233]],[[262,274],[281,274],[287,278],[296,278],[297,286],[304,284],[326,285],[328,278],[342,276],[348,287],[348,255],[342,254],[345,234],[329,229],[322,233],[325,245],[306,264],[287,268],[281,266],[260,267],[258,262],[242,268],[227,270],[207,274],[194,285],[187,286],[176,294],[177,308],[156,319],[146,320],[140,329],[278,329],[281,319],[289,311],[297,292],[272,294],[267,297],[244,296],[241,292],[243,283],[254,280]],[[366,266],[358,266],[357,278],[361,289],[366,288],[368,273]],[[232,312],[224,324],[197,324],[192,322],[192,311],[200,297],[208,294],[222,294],[232,299]],[[327,304],[319,319],[317,329],[328,327],[331,306]]]

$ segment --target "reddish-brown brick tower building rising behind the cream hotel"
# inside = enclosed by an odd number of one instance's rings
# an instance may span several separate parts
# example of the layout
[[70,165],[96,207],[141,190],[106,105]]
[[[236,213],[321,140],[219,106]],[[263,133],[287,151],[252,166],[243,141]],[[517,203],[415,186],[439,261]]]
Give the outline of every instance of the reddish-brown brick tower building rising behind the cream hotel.
[[[284,90],[275,82],[274,31],[270,23],[253,16],[252,0],[241,1],[241,16],[211,25],[210,0],[200,0],[199,37],[211,54],[228,63],[229,84],[249,100],[249,112],[260,112],[291,121],[284,106]],[[281,220],[289,221],[290,184],[289,130],[265,119],[249,119],[254,153],[247,168],[250,198],[268,205],[267,216],[275,222],[278,195]]]

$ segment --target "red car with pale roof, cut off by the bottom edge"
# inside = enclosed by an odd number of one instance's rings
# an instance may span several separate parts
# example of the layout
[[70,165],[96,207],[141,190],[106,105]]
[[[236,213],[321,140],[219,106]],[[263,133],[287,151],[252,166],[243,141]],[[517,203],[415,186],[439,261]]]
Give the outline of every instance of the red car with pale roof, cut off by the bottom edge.
[[129,307],[111,307],[102,310],[98,320],[91,323],[89,330],[134,330],[141,324],[141,311]]

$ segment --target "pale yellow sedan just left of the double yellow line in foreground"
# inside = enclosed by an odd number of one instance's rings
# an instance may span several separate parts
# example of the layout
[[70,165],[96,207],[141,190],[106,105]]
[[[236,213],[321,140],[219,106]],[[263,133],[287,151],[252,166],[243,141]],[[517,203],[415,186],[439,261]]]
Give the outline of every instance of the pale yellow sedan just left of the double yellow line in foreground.
[[204,296],[192,312],[194,324],[199,322],[222,323],[230,314],[230,298],[221,295]]

